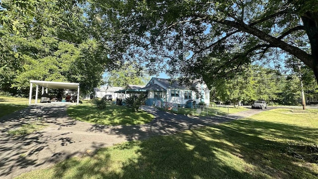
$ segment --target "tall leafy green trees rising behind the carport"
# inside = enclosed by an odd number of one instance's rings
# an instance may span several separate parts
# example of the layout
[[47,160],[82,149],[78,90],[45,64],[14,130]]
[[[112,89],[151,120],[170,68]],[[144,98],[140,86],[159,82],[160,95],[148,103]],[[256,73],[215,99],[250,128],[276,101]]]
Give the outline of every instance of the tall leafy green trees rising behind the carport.
[[29,80],[80,83],[81,92],[102,82],[106,50],[89,34],[84,3],[3,0],[0,8],[0,90],[28,94]]

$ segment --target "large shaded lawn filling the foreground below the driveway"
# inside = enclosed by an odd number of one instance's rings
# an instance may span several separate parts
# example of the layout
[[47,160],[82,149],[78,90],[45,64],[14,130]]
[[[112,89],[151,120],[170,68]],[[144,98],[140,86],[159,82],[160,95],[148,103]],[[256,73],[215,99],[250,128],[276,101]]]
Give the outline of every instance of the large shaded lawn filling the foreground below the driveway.
[[318,110],[248,119],[131,141],[18,179],[317,179]]

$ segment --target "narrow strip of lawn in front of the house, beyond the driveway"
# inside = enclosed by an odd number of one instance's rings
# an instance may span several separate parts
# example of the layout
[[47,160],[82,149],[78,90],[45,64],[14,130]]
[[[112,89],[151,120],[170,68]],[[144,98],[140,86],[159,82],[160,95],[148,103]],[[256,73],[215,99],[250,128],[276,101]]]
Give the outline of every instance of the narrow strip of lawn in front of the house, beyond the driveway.
[[240,111],[249,110],[243,107],[208,107],[205,109],[197,108],[179,108],[178,114],[195,115],[195,116],[215,116],[215,115],[227,115],[237,113]]

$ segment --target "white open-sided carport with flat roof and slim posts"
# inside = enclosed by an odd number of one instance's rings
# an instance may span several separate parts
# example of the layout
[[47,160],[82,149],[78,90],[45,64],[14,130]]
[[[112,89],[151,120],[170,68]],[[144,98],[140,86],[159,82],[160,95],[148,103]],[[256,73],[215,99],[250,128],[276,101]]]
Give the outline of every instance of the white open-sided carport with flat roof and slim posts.
[[77,102],[76,104],[79,104],[79,83],[66,83],[66,82],[48,82],[48,81],[37,81],[37,80],[31,80],[30,81],[30,96],[29,96],[29,104],[31,104],[31,98],[32,98],[32,88],[33,84],[36,85],[35,90],[35,103],[37,103],[38,98],[38,91],[39,86],[42,87],[42,94],[44,93],[44,88],[46,88],[46,92],[48,92],[48,89],[77,89],[78,96],[77,96]]

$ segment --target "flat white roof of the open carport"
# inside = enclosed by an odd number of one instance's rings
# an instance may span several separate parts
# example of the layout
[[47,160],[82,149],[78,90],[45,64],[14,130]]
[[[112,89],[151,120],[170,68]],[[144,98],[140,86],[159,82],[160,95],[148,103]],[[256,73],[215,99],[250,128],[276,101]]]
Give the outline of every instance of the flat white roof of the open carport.
[[30,83],[37,84],[49,89],[78,89],[79,83],[66,83],[66,82],[49,82],[31,80]]

